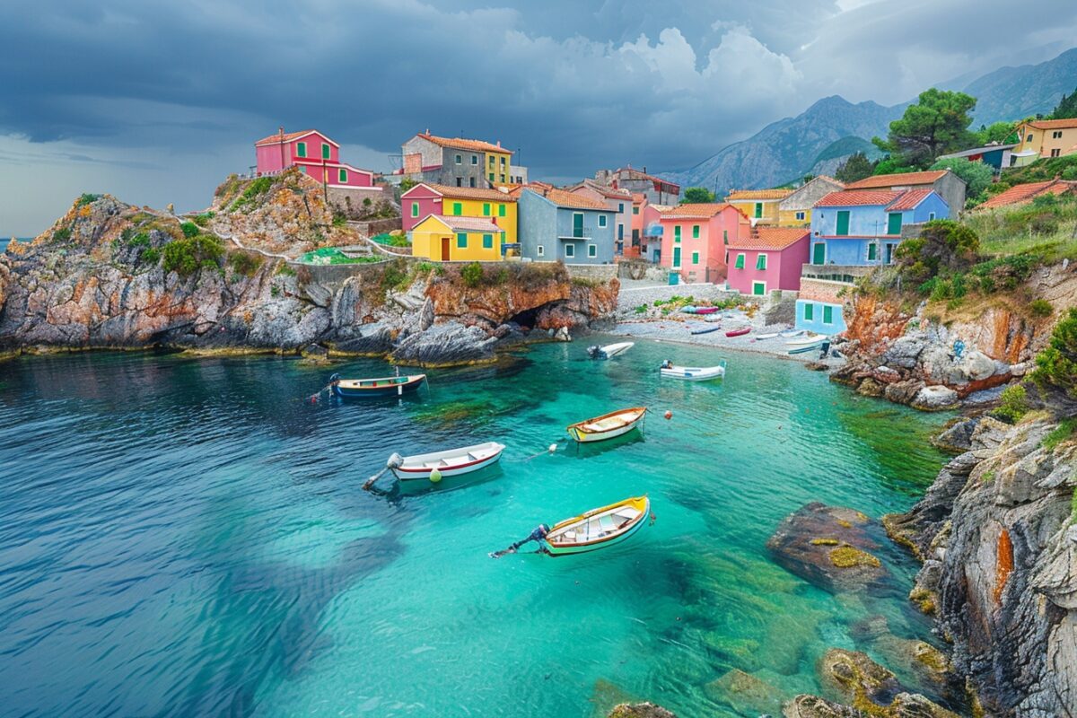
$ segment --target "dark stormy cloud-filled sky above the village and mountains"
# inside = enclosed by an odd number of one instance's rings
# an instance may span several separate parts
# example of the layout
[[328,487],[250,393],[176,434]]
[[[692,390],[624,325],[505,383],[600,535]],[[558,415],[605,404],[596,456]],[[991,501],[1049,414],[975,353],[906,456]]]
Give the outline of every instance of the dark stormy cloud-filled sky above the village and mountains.
[[0,233],[82,192],[205,207],[279,125],[376,170],[426,128],[535,179],[680,169],[827,95],[900,102],[1075,39],[1074,0],[11,0]]

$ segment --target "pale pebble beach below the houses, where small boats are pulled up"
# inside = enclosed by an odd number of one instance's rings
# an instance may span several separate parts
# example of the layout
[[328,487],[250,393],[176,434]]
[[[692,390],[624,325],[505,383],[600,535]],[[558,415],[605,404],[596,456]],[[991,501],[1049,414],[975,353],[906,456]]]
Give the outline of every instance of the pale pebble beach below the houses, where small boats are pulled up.
[[[773,324],[763,327],[761,325],[755,325],[753,323],[751,334],[740,337],[727,337],[727,330],[741,328],[745,326],[745,324],[750,323],[750,320],[743,313],[732,312],[732,314],[733,316],[731,319],[722,319],[721,322],[716,322],[722,327],[721,329],[717,332],[710,332],[708,334],[691,334],[691,330],[703,326],[713,326],[713,323],[704,322],[702,316],[699,319],[682,320],[682,315],[676,315],[675,319],[670,316],[665,319],[623,321],[617,324],[617,327],[613,329],[611,334],[621,337],[632,337],[634,339],[652,339],[660,342],[714,347],[716,349],[729,349],[740,352],[770,354],[771,356],[793,360],[803,364],[820,361],[817,351],[805,352],[802,354],[789,354],[791,348],[785,343],[788,339],[784,339],[782,337],[774,337],[773,339],[756,339],[754,336],[757,334],[784,332],[785,329],[791,328],[788,325]],[[675,357],[671,358],[673,358],[674,362],[676,361]],[[844,364],[845,360],[828,356],[823,360],[823,363],[830,369],[834,369]]]

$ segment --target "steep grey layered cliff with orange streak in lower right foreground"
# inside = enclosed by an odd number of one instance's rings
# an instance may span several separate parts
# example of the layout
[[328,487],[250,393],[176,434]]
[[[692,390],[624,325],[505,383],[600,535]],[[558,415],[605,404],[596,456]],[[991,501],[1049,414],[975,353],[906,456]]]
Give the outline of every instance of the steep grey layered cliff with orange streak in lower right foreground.
[[884,523],[924,561],[912,597],[988,715],[1077,715],[1077,445],[1045,446],[1045,420],[970,421],[967,450]]

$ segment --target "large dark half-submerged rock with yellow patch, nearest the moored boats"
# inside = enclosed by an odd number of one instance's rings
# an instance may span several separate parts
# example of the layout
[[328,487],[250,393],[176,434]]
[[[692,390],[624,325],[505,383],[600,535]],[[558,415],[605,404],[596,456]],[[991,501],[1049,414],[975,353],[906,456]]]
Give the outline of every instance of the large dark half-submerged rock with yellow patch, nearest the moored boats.
[[828,591],[870,588],[889,572],[870,552],[878,544],[869,522],[854,509],[808,504],[782,521],[767,548],[779,565]]

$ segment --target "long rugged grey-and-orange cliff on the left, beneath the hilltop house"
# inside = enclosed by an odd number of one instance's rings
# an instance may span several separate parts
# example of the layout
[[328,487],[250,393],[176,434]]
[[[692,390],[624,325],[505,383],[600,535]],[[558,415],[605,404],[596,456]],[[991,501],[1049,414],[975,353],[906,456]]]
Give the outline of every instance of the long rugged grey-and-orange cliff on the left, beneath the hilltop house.
[[0,255],[0,353],[321,344],[454,364],[491,360],[499,343],[529,329],[587,326],[616,307],[616,279],[573,280],[559,264],[462,273],[410,258],[290,262],[361,241],[298,173],[229,179],[213,208],[184,221],[84,195],[33,242],[9,245]]

